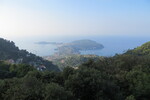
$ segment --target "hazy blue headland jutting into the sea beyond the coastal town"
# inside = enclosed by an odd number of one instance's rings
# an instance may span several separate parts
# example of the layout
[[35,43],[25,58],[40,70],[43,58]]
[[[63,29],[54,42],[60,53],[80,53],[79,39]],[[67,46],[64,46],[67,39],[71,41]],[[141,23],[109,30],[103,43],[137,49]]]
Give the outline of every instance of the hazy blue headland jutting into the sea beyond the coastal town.
[[77,40],[71,43],[64,43],[60,45],[56,53],[57,55],[72,55],[72,54],[80,54],[80,51],[84,50],[101,50],[104,46],[100,43],[97,43],[92,40]]

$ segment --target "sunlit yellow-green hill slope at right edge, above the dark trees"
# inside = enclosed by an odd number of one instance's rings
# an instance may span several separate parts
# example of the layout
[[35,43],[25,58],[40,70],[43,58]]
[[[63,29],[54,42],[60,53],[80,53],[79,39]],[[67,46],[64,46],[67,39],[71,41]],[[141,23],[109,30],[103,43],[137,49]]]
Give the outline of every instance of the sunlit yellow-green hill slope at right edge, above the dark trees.
[[138,56],[144,56],[144,55],[150,56],[150,42],[147,42],[142,46],[139,46],[133,50],[128,50],[125,54],[138,55]]

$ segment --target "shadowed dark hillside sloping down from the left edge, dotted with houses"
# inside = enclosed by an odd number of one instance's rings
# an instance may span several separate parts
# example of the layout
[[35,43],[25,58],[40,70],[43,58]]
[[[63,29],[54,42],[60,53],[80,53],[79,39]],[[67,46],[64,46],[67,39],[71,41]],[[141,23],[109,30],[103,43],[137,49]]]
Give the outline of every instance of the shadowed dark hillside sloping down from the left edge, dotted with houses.
[[0,60],[5,60],[13,64],[29,64],[38,70],[59,71],[58,67],[43,58],[29,53],[26,50],[20,50],[12,41],[0,38]]

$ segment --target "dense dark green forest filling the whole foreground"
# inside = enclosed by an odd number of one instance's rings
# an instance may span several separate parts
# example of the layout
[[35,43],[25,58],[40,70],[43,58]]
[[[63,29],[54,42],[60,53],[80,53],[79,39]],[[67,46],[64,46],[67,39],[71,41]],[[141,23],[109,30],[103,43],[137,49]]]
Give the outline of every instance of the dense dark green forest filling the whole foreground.
[[0,62],[0,100],[150,100],[150,56],[128,51],[62,72]]

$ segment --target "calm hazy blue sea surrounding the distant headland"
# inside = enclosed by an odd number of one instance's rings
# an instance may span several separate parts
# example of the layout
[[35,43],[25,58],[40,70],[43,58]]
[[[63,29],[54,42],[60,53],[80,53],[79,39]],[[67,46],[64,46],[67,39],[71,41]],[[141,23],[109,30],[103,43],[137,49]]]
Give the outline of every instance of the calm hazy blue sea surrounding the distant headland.
[[150,37],[144,36],[69,36],[69,37],[28,37],[13,40],[20,49],[27,50],[38,56],[50,56],[57,52],[56,45],[46,44],[40,45],[37,42],[58,42],[68,43],[75,40],[90,39],[104,45],[102,50],[86,50],[81,51],[81,54],[93,54],[98,56],[114,56],[115,54],[122,54],[127,50],[134,49],[142,44],[150,41]]

